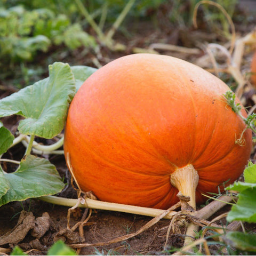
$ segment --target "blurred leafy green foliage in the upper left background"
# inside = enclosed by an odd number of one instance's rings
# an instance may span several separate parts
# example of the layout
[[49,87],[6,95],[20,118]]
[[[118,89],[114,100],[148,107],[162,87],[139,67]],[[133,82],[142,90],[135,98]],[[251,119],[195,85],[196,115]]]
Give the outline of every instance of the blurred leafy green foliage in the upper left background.
[[21,5],[0,9],[0,57],[8,61],[29,61],[37,51],[64,44],[74,50],[96,45],[79,23],[71,24],[65,14],[49,9],[26,10]]

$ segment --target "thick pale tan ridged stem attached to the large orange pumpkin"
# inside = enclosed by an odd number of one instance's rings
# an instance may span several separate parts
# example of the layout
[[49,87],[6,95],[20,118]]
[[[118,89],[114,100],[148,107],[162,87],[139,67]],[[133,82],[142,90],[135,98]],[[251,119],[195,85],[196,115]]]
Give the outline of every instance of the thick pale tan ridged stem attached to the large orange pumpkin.
[[179,190],[184,196],[189,196],[188,204],[196,209],[196,187],[199,176],[194,166],[191,164],[176,169],[171,174],[171,184]]

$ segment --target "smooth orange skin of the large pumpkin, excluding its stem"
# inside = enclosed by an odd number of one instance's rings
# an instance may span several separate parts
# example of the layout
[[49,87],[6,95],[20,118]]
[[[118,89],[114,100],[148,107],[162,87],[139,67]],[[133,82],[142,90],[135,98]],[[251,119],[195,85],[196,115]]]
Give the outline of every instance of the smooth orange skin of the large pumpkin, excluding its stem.
[[[101,201],[167,209],[179,201],[170,175],[192,164],[201,194],[218,193],[244,170],[252,147],[229,87],[186,61],[132,54],[92,74],[71,102],[65,156],[83,191]],[[246,116],[245,110],[242,115]]]

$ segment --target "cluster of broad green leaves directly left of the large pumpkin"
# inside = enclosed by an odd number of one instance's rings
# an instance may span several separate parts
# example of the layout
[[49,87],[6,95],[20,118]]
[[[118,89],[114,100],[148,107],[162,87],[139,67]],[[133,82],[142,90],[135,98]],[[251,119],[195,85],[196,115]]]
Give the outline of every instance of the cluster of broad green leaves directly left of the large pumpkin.
[[[96,70],[55,62],[49,66],[49,77],[1,99],[0,117],[25,117],[20,121],[18,130],[31,135],[30,146],[35,135],[53,138],[63,130],[68,107],[76,90]],[[13,139],[10,131],[0,122],[0,154],[12,146]],[[55,166],[45,158],[30,155],[30,151],[31,148],[26,151],[26,157],[15,172],[6,173],[0,165],[0,206],[12,201],[56,194],[63,189],[64,183]]]

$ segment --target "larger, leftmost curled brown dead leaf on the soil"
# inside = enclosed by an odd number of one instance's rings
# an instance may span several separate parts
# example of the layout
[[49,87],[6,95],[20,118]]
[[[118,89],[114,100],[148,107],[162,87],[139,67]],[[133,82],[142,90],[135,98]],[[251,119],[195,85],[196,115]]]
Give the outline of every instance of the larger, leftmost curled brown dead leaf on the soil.
[[18,244],[35,227],[35,217],[32,212],[22,211],[17,225],[6,235],[0,237],[0,245]]

